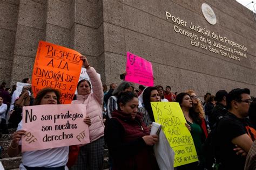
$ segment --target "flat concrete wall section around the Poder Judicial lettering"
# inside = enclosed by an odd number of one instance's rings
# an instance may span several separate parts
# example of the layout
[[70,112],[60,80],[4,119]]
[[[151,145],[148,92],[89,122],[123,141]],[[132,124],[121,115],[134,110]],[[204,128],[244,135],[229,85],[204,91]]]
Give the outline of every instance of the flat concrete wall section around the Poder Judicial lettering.
[[[214,10],[217,24],[207,23],[202,3]],[[130,51],[151,61],[155,84],[170,85],[172,91],[194,89],[203,96],[207,91],[247,87],[256,95],[256,22],[252,12],[237,2],[105,0],[103,11],[105,62],[114,66],[106,67],[107,84],[119,81]],[[167,20],[165,11],[244,44],[247,59],[236,61],[190,45],[190,38],[174,32],[178,24]]]

